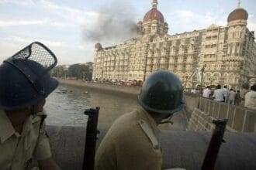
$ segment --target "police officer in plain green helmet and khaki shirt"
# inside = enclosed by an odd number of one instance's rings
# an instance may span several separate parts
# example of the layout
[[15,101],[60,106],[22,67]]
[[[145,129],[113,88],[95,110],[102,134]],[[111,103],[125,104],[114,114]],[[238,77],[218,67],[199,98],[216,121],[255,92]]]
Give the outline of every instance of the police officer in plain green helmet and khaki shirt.
[[182,83],[169,71],[154,72],[145,80],[138,103],[140,109],[119,117],[103,138],[96,170],[162,168],[157,125],[182,110]]

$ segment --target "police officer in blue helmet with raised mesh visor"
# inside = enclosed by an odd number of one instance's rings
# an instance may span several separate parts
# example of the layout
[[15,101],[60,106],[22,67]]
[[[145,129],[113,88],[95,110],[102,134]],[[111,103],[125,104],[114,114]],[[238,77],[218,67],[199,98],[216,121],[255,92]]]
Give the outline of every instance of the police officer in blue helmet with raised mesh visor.
[[[37,61],[38,62],[37,62]],[[40,63],[41,62],[41,63]],[[58,82],[54,53],[33,42],[0,65],[0,169],[59,169],[51,158],[43,111]]]

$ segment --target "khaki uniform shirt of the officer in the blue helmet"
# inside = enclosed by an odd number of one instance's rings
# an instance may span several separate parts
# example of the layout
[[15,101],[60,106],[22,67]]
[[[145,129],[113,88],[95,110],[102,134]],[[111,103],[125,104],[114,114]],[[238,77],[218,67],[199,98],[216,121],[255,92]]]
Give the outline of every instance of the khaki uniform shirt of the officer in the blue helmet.
[[40,121],[44,112],[29,116],[19,134],[12,127],[11,121],[0,110],[0,169],[27,169],[32,159],[43,160],[51,157],[50,145],[43,124]]

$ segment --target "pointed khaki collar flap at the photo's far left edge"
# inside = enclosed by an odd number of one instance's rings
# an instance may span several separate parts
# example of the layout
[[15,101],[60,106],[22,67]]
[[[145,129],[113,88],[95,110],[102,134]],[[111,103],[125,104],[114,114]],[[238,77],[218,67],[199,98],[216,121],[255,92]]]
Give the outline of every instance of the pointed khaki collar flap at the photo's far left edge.
[[0,139],[4,143],[13,134],[16,134],[9,117],[5,114],[4,110],[0,110]]

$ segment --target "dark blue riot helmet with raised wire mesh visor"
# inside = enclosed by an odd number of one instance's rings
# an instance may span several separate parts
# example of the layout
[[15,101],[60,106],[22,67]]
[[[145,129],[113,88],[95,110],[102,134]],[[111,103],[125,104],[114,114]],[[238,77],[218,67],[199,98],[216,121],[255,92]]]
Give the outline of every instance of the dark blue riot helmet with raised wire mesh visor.
[[34,106],[53,92],[58,82],[50,77],[57,58],[47,46],[33,42],[0,65],[0,109]]

